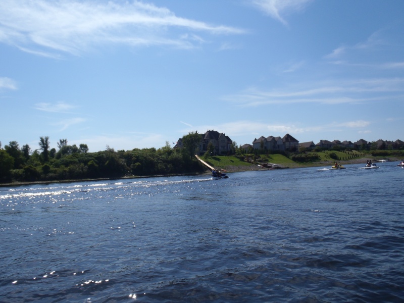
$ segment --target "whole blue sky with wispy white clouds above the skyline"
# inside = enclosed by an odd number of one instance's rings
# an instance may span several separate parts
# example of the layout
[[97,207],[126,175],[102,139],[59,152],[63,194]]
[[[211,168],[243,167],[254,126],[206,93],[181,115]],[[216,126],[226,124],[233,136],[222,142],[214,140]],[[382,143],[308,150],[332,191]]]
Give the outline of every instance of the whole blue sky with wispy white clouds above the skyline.
[[402,12],[402,0],[2,0],[0,141],[404,140]]

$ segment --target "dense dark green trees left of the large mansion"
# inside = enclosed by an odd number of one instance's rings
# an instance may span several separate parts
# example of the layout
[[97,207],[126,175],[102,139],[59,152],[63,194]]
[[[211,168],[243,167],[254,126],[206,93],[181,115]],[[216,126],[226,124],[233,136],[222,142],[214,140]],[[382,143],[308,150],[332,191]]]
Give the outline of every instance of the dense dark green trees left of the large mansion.
[[2,148],[0,142],[0,183],[63,181],[124,176],[150,176],[203,172],[194,152],[200,134],[189,132],[183,137],[184,148],[172,148],[166,141],[161,148],[134,148],[89,153],[87,144],[69,145],[58,141],[58,149],[50,148],[48,136],[39,137],[38,149],[11,141]]

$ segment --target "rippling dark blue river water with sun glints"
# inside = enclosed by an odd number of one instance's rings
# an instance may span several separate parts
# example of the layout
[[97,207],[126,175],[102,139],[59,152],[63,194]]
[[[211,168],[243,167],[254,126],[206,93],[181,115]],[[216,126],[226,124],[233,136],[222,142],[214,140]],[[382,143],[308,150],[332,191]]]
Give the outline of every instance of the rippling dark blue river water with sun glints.
[[396,164],[0,188],[0,301],[402,302]]

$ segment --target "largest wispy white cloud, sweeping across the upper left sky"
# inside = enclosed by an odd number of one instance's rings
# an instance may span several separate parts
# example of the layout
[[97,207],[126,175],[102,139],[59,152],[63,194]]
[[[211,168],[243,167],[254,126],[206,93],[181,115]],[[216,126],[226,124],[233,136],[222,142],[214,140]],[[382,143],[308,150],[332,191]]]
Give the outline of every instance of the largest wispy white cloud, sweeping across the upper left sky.
[[0,2],[0,42],[39,56],[79,55],[102,44],[189,48],[204,42],[196,32],[227,35],[245,31],[177,17],[166,8],[139,1]]

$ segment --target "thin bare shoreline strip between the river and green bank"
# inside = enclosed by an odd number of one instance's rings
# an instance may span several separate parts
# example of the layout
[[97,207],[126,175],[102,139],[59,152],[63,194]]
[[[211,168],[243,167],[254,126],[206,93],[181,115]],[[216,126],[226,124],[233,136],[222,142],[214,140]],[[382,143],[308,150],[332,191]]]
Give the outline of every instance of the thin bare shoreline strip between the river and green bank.
[[[366,160],[369,160],[370,157],[364,157],[360,159],[352,159],[346,161],[322,161],[315,163],[305,163],[305,164],[297,164],[291,166],[283,166],[279,165],[278,169],[296,169],[296,168],[306,168],[306,167],[322,167],[322,166],[332,166],[335,162],[338,162],[341,165],[349,165],[349,164],[365,164]],[[371,159],[374,163],[380,162],[377,159]],[[402,161],[397,157],[390,157],[387,162],[397,162]],[[384,162],[384,163],[387,163]],[[275,163],[273,163],[275,164]],[[227,173],[237,173],[237,172],[247,172],[247,171],[266,171],[266,170],[277,170],[270,169],[265,167],[259,167],[255,164],[251,164],[250,166],[232,166],[226,167]],[[73,183],[73,182],[89,182],[89,181],[108,181],[108,180],[124,180],[124,179],[140,179],[140,178],[157,178],[157,177],[174,177],[174,176],[196,176],[196,175],[207,175],[211,172],[207,170],[204,173],[194,173],[194,174],[168,174],[168,175],[151,175],[151,176],[124,176],[117,178],[94,178],[94,179],[72,179],[72,180],[52,180],[52,181],[27,181],[27,182],[11,182],[11,183],[0,183],[0,187],[18,187],[18,186],[26,186],[26,185],[35,185],[35,184],[53,184],[53,183]]]

